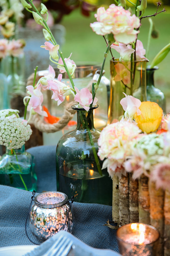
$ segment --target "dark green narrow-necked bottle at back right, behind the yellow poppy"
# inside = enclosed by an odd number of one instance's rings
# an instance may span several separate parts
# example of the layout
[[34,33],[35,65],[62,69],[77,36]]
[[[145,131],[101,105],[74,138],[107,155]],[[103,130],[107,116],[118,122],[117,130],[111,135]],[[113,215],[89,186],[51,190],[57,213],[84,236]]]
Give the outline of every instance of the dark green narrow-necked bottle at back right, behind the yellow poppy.
[[152,69],[147,67],[146,69],[146,90],[147,90],[147,101],[153,101],[158,103],[158,105],[162,108],[163,112],[166,113],[166,101],[165,95],[161,90],[155,88],[154,85],[154,73],[158,67],[155,66]]

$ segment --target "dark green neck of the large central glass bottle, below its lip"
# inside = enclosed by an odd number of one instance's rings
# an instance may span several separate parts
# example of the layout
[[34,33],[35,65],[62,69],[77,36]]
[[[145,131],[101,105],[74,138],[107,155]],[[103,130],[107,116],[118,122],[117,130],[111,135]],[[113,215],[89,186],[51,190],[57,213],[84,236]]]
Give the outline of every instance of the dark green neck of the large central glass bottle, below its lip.
[[93,111],[77,110],[77,130],[86,129],[87,125],[90,130],[94,129]]

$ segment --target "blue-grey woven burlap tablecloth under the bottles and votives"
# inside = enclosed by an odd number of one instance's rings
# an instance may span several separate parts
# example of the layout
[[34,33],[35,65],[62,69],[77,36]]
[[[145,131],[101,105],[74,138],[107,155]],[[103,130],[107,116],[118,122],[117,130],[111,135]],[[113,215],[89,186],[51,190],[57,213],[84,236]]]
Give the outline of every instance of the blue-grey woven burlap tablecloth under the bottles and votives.
[[[37,191],[56,191],[55,146],[39,146],[27,150],[35,156]],[[0,247],[32,244],[25,234],[25,221],[32,192],[0,185]],[[112,221],[112,207],[99,204],[73,203],[75,225],[72,234],[99,249],[118,252],[116,230],[103,226]],[[27,231],[33,237],[27,223]]]

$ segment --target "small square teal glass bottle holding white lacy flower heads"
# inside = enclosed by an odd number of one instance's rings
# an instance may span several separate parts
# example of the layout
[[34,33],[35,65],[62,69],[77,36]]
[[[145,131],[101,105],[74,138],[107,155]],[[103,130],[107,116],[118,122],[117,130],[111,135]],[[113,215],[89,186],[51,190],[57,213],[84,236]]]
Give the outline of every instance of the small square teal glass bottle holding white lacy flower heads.
[[0,184],[33,191],[36,183],[33,156],[25,151],[25,145],[20,149],[6,149],[0,158]]

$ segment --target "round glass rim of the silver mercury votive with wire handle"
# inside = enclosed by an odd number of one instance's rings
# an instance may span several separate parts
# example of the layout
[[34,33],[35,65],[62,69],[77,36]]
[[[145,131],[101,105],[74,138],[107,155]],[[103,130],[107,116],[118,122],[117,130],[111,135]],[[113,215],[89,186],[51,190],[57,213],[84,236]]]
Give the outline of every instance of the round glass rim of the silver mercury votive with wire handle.
[[[60,195],[62,195],[63,200],[59,203],[54,203],[54,204],[44,204],[44,203],[41,203],[41,202],[38,201],[38,197],[41,197],[42,195],[48,195],[49,193],[53,194],[53,197],[56,196],[57,194],[60,194]],[[35,198],[34,198],[35,205],[38,206],[38,207],[41,207],[41,208],[57,208],[57,207],[65,205],[67,203],[67,201],[68,201],[67,195],[64,194],[63,192],[59,192],[59,191],[42,192],[42,193],[36,195]]]

